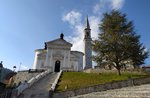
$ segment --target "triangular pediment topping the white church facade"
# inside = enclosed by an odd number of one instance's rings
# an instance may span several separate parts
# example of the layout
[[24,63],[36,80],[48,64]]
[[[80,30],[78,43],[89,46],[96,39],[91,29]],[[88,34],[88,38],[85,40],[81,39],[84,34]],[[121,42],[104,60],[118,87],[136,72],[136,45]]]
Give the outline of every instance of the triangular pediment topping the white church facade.
[[46,44],[47,45],[67,45],[67,46],[72,47],[71,43],[69,43],[66,40],[61,39],[61,38],[58,38],[58,39],[55,39],[55,40],[52,40],[52,41],[48,41],[48,42],[46,42]]

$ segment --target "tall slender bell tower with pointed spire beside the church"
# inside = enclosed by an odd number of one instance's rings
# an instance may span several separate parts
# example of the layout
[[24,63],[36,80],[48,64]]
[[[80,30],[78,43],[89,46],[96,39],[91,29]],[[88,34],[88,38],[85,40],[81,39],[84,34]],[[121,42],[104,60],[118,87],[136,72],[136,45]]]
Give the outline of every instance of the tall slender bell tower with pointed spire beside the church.
[[86,25],[84,28],[84,69],[92,68],[92,38],[91,38],[91,29],[88,20],[86,19]]

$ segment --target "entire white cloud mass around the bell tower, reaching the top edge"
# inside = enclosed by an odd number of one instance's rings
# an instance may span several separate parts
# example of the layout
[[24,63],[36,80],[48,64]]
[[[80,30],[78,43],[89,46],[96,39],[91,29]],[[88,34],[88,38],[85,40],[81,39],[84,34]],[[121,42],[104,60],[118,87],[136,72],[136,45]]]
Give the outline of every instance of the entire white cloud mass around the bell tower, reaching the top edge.
[[[99,31],[99,24],[101,20],[101,15],[106,11],[106,9],[121,9],[124,4],[124,0],[100,0],[95,6],[93,6],[93,15],[89,15],[89,23],[91,27],[92,39],[96,39]],[[65,37],[65,39],[73,44],[72,50],[82,51],[84,49],[84,23],[81,20],[85,20],[79,11],[70,11],[63,15],[62,20],[68,22],[73,28],[73,34]]]

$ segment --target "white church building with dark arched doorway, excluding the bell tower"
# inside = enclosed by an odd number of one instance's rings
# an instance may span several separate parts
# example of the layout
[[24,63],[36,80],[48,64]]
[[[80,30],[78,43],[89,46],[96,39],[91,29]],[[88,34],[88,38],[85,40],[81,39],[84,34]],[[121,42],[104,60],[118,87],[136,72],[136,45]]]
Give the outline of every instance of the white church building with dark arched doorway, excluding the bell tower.
[[72,44],[59,38],[46,42],[47,49],[35,50],[33,69],[49,69],[51,72],[82,71],[83,53],[71,51]]

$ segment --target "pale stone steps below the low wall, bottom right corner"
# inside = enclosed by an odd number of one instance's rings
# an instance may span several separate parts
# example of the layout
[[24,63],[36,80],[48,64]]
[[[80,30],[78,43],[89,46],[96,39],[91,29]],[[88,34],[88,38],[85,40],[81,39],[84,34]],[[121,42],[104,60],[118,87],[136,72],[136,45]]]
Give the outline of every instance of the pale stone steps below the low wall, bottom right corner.
[[71,98],[150,98],[150,84],[93,92]]

